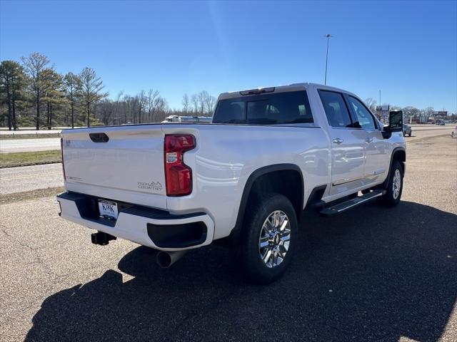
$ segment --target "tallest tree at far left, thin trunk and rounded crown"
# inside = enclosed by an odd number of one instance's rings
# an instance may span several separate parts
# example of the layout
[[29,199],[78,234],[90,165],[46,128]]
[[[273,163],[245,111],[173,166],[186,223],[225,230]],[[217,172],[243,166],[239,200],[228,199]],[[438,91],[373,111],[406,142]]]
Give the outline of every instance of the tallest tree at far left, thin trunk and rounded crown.
[[[41,107],[41,93],[44,88],[43,71],[48,68],[50,63],[49,58],[40,53],[31,53],[29,57],[21,57],[24,64],[26,73],[31,78],[31,90],[34,93],[36,103],[36,130],[40,129],[40,107]],[[53,69],[54,66],[51,66]]]

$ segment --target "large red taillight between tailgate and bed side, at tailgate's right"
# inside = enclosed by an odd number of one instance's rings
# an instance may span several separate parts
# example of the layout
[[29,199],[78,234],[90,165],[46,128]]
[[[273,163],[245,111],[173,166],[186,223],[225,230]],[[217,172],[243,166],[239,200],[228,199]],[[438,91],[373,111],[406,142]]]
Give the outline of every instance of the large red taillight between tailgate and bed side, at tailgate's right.
[[194,135],[165,135],[164,162],[167,196],[185,196],[192,192],[192,170],[184,164],[184,152],[195,148]]

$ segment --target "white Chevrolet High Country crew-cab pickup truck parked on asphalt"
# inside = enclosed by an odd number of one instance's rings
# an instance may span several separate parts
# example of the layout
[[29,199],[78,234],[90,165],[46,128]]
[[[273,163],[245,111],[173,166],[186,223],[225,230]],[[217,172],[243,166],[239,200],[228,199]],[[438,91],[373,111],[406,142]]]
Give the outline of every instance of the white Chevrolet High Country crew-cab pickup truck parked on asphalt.
[[225,242],[265,284],[290,263],[303,209],[398,204],[402,128],[401,111],[384,126],[353,93],[298,83],[222,93],[211,124],[64,130],[60,215],[96,229],[94,244],[159,249],[161,266]]

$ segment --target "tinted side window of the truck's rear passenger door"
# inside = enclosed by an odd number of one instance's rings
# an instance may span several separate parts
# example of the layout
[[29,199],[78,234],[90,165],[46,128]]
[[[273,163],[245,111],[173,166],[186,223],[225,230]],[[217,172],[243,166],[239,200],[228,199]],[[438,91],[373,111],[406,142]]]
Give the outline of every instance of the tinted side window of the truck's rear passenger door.
[[326,111],[328,124],[336,128],[352,126],[351,117],[344,103],[343,95],[334,91],[318,90],[323,109]]

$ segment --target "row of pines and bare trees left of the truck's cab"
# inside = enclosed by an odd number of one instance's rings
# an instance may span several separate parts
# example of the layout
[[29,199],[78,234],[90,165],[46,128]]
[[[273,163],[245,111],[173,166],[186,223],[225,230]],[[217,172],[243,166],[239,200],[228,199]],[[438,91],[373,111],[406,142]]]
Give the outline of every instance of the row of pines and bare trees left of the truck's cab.
[[0,63],[0,126],[9,130],[155,123],[171,114],[212,115],[216,98],[201,91],[184,94],[181,104],[179,110],[169,108],[154,89],[136,95],[121,91],[109,98],[94,69],[60,74],[41,53]]

